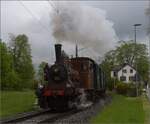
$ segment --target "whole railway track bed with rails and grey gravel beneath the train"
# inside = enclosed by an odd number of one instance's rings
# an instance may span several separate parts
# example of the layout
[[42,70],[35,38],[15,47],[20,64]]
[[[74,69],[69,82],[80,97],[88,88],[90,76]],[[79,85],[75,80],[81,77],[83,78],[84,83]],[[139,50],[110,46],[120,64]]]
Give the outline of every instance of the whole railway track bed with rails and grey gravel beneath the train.
[[[56,112],[49,110],[42,111],[34,111],[28,112],[21,115],[17,115],[16,117],[12,117],[9,119],[1,120],[2,124],[52,124],[52,123],[68,123],[68,122],[86,122],[96,111],[94,108],[96,106],[103,107],[104,104],[109,103],[109,97],[105,97],[101,99],[101,102],[96,102],[93,106],[80,109],[80,110],[70,110],[65,112]],[[95,106],[95,107],[94,107]],[[97,107],[98,108],[98,107]],[[68,118],[70,120],[68,120]],[[67,120],[66,120],[67,119]]]

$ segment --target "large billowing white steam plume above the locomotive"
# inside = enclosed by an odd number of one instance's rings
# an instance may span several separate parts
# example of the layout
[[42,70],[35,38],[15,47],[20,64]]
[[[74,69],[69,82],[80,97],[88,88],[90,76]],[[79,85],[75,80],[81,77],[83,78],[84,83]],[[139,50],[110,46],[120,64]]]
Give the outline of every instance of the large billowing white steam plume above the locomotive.
[[114,46],[117,36],[105,11],[74,2],[59,2],[55,7],[51,24],[58,42],[77,42],[100,55]]

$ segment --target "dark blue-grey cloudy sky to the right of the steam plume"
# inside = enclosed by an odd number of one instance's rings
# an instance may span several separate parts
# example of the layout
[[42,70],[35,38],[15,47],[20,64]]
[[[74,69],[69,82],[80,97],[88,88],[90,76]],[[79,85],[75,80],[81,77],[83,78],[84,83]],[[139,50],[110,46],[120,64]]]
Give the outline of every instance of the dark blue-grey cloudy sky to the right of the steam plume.
[[140,40],[145,40],[146,27],[148,26],[145,9],[148,7],[148,1],[113,1],[108,4],[106,3],[108,1],[103,4],[94,5],[107,11],[108,18],[114,22],[114,28],[120,40],[133,39],[133,24],[135,23],[142,24],[138,29],[137,37]]

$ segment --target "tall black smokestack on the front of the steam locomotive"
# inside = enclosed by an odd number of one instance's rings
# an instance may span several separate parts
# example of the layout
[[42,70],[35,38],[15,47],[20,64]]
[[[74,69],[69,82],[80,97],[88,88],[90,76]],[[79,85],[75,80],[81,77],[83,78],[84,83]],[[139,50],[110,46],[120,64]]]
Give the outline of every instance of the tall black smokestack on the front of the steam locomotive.
[[56,63],[61,61],[61,44],[55,44]]

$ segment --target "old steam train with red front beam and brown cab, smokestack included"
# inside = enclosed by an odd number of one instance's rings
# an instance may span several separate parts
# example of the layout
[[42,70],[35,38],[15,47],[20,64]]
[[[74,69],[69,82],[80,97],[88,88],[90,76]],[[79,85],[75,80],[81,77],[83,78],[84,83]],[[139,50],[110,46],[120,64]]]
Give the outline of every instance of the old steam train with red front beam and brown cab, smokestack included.
[[44,67],[47,83],[38,88],[39,106],[61,109],[91,105],[105,94],[104,72],[88,57],[64,57],[61,47],[61,44],[55,44],[55,64]]

